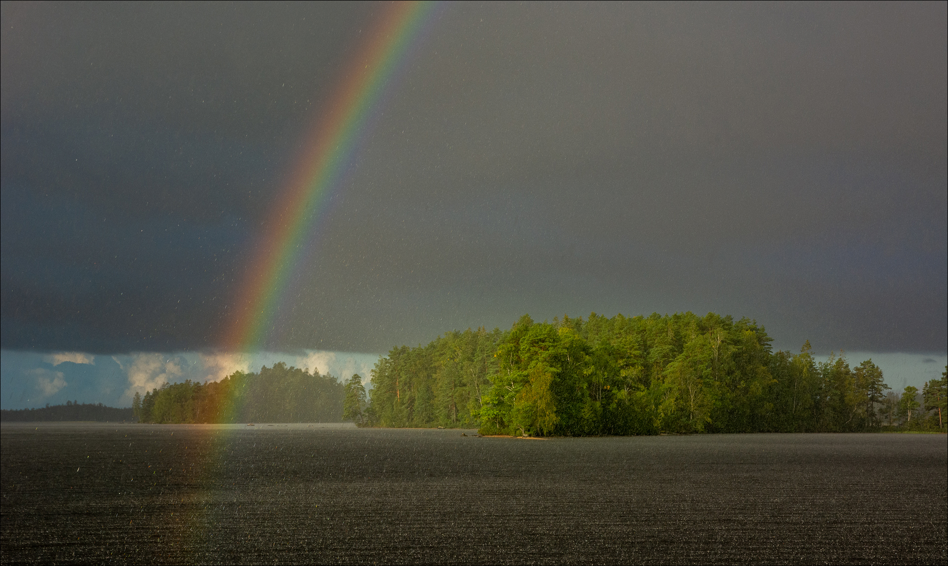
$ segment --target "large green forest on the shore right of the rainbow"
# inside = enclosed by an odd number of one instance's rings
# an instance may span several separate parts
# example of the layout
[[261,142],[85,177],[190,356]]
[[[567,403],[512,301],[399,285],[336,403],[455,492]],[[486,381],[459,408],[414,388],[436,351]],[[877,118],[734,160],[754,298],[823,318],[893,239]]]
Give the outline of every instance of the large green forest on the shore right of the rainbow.
[[[946,377],[889,392],[882,371],[809,342],[774,352],[753,320],[710,313],[535,322],[394,348],[373,371],[362,426],[483,434],[941,429]],[[353,396],[355,399],[355,396]],[[921,399],[920,399],[921,398]]]

